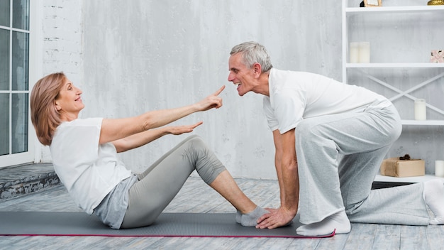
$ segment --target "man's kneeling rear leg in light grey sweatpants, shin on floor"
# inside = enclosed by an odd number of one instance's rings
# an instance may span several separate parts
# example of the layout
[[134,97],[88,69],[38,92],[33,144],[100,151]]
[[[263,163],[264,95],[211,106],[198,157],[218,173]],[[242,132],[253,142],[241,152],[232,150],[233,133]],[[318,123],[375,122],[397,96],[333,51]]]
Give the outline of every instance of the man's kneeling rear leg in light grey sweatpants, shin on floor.
[[380,224],[428,224],[422,184],[370,190],[389,146],[367,153],[344,156],[340,183],[350,222]]

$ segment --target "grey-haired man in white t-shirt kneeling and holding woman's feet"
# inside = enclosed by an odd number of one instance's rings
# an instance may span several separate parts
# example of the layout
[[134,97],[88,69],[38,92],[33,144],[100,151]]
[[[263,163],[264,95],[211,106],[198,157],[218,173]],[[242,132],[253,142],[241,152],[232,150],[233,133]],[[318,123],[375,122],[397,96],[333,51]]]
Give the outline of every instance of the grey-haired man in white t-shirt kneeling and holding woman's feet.
[[258,228],[281,227],[296,212],[304,224],[296,232],[307,236],[346,234],[350,222],[443,224],[440,180],[371,190],[401,134],[401,119],[387,98],[321,75],[274,69],[255,42],[236,45],[230,55],[228,81],[240,96],[264,95],[276,148],[281,206],[260,217]]

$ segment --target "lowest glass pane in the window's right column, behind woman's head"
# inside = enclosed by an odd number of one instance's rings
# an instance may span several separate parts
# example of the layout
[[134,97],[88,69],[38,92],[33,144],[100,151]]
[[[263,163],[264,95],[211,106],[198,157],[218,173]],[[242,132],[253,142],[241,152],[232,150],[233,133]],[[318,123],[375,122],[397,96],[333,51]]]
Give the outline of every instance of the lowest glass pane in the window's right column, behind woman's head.
[[12,94],[12,153],[28,151],[28,94]]

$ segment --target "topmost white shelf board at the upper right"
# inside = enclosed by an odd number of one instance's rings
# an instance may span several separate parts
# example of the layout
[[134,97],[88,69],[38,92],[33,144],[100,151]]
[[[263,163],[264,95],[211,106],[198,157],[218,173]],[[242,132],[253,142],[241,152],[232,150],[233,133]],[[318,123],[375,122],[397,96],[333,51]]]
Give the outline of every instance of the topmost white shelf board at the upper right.
[[345,8],[346,13],[401,13],[401,12],[429,12],[444,11],[444,6],[389,6],[389,7],[373,7],[373,8]]

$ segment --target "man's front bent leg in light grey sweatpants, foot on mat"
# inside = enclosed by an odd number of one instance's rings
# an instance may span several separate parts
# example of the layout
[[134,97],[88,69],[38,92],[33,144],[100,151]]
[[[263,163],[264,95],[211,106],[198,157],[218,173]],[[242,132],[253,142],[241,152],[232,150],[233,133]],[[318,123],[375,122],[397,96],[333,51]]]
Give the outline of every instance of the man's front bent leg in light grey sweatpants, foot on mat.
[[[331,227],[333,219],[333,222],[339,221],[339,225],[336,224],[346,232],[349,224],[343,220],[345,212],[338,175],[338,156],[377,151],[391,145],[401,132],[399,115],[391,107],[355,114],[322,116],[301,121],[296,131],[301,190],[299,211],[301,222],[308,224],[299,231],[306,235],[327,234],[333,229],[324,226]],[[379,164],[372,165],[368,171],[376,173],[375,168],[379,168]],[[367,183],[362,187],[369,183],[371,185],[373,178],[374,174],[367,176]]]

